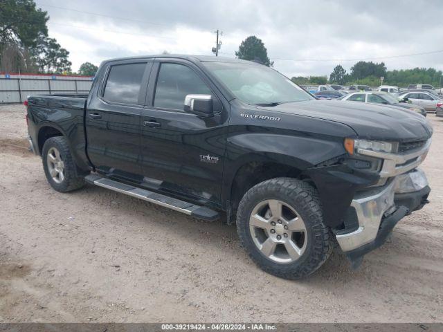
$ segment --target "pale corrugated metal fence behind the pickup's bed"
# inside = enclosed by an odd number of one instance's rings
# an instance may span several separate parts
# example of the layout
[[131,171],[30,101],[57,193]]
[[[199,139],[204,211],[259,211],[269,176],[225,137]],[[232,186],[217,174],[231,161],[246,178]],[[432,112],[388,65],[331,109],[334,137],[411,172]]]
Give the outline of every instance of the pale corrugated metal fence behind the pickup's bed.
[[21,103],[28,95],[87,94],[92,77],[0,77],[0,104]]

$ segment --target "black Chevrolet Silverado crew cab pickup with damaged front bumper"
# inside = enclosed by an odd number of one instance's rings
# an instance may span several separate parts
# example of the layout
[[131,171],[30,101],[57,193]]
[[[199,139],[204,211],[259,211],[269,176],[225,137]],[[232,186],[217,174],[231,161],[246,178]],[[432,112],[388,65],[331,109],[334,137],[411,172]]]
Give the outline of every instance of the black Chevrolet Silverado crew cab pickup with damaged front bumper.
[[28,98],[30,145],[55,190],[90,183],[236,223],[253,261],[279,277],[313,273],[335,241],[357,267],[428,203],[423,116],[316,100],[255,62],[112,59],[84,97]]

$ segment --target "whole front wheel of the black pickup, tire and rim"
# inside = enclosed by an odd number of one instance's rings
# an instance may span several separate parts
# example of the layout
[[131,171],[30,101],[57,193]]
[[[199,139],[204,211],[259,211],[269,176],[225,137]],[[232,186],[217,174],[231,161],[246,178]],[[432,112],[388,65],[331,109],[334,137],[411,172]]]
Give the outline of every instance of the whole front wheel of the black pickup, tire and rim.
[[316,189],[295,178],[248,190],[237,210],[237,232],[255,264],[285,279],[310,275],[332,250]]

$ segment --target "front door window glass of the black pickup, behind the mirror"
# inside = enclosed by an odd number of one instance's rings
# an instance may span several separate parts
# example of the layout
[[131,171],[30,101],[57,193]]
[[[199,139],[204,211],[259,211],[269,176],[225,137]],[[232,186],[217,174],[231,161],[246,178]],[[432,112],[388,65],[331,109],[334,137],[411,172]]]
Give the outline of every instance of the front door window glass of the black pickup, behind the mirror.
[[157,77],[154,107],[183,111],[186,95],[210,95],[211,91],[191,68],[164,63]]

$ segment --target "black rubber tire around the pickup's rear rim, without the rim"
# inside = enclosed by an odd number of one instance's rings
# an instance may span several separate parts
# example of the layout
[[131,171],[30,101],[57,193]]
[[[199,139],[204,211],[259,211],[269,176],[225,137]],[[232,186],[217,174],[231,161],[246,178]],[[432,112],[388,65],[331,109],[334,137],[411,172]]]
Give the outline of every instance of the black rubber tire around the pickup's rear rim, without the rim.
[[[60,183],[57,183],[50,173],[51,166],[48,165],[48,152],[51,151],[51,148],[57,149],[64,164],[64,178],[58,180]],[[42,161],[46,179],[57,192],[71,192],[84,186],[84,177],[77,175],[71,149],[69,149],[68,141],[63,136],[51,137],[46,140],[42,149]]]

